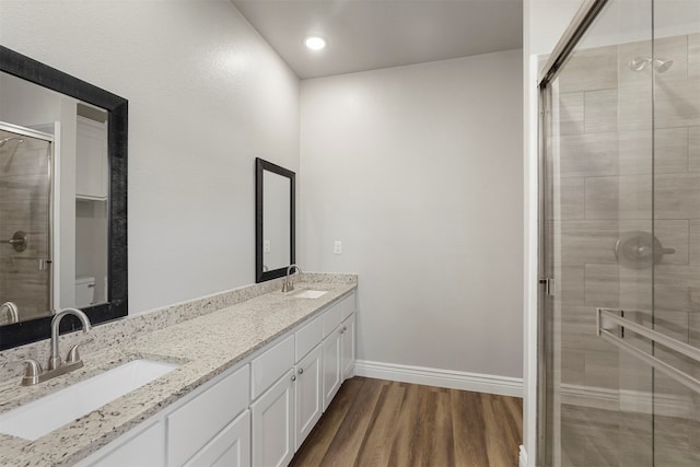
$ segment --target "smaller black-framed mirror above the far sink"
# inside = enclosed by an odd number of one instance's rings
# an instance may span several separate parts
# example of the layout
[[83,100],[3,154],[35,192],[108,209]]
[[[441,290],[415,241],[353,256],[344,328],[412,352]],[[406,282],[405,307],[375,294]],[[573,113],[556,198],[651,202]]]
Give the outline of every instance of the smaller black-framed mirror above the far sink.
[[255,160],[255,281],[287,273],[294,264],[294,172]]

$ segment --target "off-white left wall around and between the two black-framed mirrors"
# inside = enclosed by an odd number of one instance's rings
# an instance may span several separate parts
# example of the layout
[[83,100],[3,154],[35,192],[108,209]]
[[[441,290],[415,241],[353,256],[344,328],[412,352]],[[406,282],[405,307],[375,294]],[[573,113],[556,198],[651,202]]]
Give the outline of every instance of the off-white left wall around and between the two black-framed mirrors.
[[299,80],[226,0],[0,0],[0,43],[129,100],[129,311],[255,281],[255,156],[299,168]]

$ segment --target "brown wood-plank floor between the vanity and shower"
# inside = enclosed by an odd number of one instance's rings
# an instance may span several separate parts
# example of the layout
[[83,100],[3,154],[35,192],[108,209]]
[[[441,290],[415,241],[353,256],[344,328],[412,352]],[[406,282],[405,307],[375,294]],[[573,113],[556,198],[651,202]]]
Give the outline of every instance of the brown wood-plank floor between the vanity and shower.
[[517,466],[517,397],[355,376],[291,466]]

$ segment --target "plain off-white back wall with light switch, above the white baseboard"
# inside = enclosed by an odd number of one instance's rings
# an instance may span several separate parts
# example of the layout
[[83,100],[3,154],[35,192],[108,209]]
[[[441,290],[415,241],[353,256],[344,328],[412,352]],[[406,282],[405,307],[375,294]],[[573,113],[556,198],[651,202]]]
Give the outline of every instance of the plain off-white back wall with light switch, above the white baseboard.
[[521,59],[302,81],[301,266],[360,275],[360,360],[522,376]]

